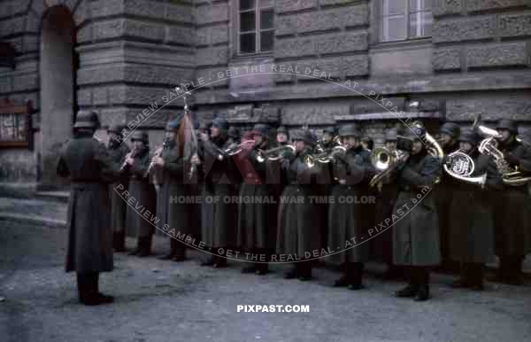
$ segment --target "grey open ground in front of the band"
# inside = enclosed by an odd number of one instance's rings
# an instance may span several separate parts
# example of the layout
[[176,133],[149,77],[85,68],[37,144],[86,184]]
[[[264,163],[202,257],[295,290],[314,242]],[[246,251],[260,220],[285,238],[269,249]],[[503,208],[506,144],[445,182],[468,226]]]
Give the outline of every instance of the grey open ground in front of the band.
[[[403,284],[373,276],[366,290],[348,291],[330,287],[338,274],[328,269],[300,283],[282,279],[280,266],[264,277],[240,274],[236,262],[202,268],[197,253],[183,263],[116,254],[116,270],[101,276],[116,302],[84,307],[75,276],[63,271],[65,233],[0,222],[0,341],[531,340],[528,285],[457,291],[449,276],[435,276],[434,299],[414,303],[391,296]],[[244,304],[309,305],[310,313],[237,313]]]

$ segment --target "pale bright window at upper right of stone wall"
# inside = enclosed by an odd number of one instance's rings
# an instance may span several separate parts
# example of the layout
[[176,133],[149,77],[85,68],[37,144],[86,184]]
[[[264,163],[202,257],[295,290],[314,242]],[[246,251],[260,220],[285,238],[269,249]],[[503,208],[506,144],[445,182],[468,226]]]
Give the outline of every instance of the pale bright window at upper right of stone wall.
[[381,42],[431,36],[433,0],[382,0]]

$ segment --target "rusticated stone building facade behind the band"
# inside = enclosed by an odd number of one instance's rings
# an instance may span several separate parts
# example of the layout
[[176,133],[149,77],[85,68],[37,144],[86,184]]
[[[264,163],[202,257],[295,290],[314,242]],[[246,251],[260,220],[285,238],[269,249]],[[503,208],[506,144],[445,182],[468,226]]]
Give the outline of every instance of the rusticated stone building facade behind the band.
[[[33,148],[0,150],[1,183],[57,184],[79,109],[104,126],[152,112],[142,128],[159,143],[183,105],[164,98],[181,83],[199,84],[199,120],[357,121],[377,144],[396,113],[431,129],[473,113],[531,123],[528,0],[0,0],[0,41],[16,51],[0,65],[0,97],[36,109]],[[252,66],[301,73],[235,76]]]

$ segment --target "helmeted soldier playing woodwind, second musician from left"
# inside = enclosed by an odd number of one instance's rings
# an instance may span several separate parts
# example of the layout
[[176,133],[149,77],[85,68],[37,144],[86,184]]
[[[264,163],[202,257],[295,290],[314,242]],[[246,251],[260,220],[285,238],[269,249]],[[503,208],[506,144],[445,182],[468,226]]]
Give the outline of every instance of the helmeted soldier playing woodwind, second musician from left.
[[[156,194],[147,174],[150,166],[149,139],[146,132],[136,130],[131,135],[132,154],[126,159],[129,176],[129,198],[127,198],[127,229],[136,237],[136,248],[129,255],[139,257],[151,254],[151,240],[155,231]],[[146,211],[149,214],[146,214]],[[147,215],[147,218],[146,218]]]

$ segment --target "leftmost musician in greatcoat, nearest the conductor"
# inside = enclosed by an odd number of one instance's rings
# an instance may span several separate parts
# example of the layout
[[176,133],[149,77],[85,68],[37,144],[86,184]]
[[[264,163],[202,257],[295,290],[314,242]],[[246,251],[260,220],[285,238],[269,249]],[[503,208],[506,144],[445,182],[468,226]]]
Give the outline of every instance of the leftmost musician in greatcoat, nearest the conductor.
[[[109,135],[107,151],[111,155],[112,160],[118,165],[123,164],[129,152],[127,144],[123,141],[121,130],[122,127],[119,125],[112,125],[107,129],[107,134]],[[128,183],[127,175],[122,173],[119,180],[112,183],[109,188],[111,192],[112,247],[116,252],[124,252],[126,250],[127,203],[115,189],[118,187],[120,189],[127,189]]]

